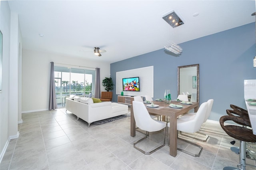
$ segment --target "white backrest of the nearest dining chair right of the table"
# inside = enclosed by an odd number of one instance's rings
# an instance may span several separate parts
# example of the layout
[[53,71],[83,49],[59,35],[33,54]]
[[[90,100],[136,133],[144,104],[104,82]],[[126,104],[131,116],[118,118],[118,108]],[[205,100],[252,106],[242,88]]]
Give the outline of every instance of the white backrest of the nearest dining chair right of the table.
[[194,132],[197,132],[201,128],[202,124],[204,123],[204,118],[207,113],[207,109],[208,109],[207,102],[204,102],[200,105],[196,115],[193,117],[193,121],[191,121],[191,126],[188,127],[189,131],[187,131],[187,132],[194,133]]

